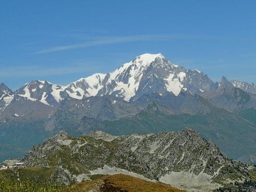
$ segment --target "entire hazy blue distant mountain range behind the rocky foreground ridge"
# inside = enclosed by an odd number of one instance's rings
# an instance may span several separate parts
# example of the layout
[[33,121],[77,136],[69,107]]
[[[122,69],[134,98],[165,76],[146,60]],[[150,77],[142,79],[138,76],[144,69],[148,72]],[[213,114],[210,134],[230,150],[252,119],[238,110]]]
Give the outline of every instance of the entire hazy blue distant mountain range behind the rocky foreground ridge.
[[256,86],[213,82],[199,70],[143,54],[114,72],[68,86],[34,80],[0,85],[0,160],[24,155],[60,130],[74,136],[180,131],[193,127],[231,158],[256,161]]

